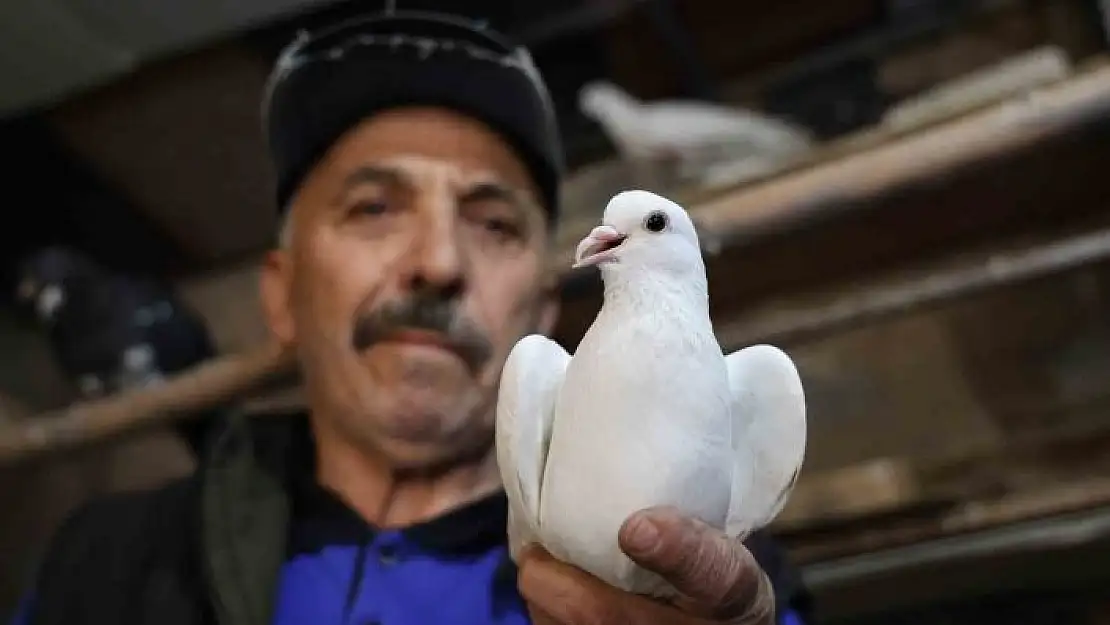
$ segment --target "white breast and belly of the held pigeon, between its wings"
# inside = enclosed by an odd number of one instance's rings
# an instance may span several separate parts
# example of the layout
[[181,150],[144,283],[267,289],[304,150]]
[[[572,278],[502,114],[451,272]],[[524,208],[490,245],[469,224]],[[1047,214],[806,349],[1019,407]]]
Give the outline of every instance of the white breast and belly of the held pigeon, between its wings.
[[724,526],[728,397],[712,333],[632,322],[584,337],[556,404],[541,494],[545,544],[614,582],[629,566],[616,536],[632,513],[673,505]]

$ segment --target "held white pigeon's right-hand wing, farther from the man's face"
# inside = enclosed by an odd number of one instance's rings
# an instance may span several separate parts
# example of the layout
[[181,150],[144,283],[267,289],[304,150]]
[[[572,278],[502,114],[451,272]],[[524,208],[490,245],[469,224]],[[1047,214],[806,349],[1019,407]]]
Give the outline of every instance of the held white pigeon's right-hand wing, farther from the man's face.
[[733,392],[733,495],[726,532],[743,536],[786,504],[806,454],[806,400],[786,353],[753,345],[725,357]]

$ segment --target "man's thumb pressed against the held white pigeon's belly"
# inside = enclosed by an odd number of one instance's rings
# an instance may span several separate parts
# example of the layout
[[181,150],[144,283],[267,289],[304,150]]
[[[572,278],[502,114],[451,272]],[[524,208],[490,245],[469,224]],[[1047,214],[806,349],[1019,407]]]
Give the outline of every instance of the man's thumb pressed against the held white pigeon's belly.
[[774,613],[770,582],[748,550],[673,507],[632,515],[620,527],[620,548],[714,616],[760,623]]

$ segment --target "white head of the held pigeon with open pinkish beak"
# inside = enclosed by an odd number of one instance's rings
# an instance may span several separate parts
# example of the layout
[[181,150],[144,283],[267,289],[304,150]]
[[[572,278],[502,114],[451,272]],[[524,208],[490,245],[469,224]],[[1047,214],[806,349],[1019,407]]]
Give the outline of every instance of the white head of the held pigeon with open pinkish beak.
[[685,274],[704,271],[697,230],[678,204],[647,191],[616,194],[595,228],[578,243],[574,266],[603,274],[624,268]]

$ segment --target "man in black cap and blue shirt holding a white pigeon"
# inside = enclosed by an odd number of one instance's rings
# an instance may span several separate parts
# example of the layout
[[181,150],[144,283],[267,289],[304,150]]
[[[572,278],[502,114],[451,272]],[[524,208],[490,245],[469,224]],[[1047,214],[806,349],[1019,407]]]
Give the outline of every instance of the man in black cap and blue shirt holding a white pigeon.
[[235,421],[195,476],[74,514],[29,623],[773,622],[750,554],[669,510],[620,542],[678,605],[507,558],[500,371],[556,315],[561,150],[526,53],[447,17],[346,22],[282,54],[265,120],[262,302],[309,414]]

